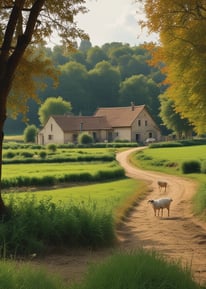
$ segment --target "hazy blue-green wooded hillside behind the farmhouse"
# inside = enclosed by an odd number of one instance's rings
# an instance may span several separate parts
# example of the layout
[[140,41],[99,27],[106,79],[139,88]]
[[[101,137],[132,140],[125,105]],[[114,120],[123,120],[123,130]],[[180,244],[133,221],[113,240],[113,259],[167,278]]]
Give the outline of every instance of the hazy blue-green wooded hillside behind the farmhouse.
[[[45,48],[60,71],[59,84],[53,87],[47,80],[47,88],[39,92],[44,102],[48,97],[61,96],[72,105],[74,115],[92,115],[98,107],[129,106],[146,104],[156,122],[160,125],[159,95],[164,91],[161,81],[164,76],[149,66],[150,54],[143,45],[107,43],[92,47],[89,41],[82,41],[75,53],[64,53],[62,46]],[[29,124],[40,126],[38,110],[40,104],[29,103],[27,114]],[[25,124],[21,116],[6,121],[7,134],[18,134]]]

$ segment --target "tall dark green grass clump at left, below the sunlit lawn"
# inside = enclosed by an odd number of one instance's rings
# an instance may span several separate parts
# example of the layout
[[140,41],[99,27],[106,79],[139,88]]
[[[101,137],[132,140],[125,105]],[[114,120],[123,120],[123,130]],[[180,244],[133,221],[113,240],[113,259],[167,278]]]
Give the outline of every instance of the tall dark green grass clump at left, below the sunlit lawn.
[[[32,228],[32,229],[31,229]],[[43,253],[48,247],[111,245],[115,240],[112,214],[91,200],[67,206],[51,199],[10,197],[0,223],[0,255]]]

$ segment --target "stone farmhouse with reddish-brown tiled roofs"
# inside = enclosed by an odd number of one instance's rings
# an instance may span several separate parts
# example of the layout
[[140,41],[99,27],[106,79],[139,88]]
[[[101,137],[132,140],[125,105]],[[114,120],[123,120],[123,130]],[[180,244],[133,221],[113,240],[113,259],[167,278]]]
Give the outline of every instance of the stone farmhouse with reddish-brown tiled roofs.
[[161,132],[145,105],[98,108],[93,116],[52,115],[39,131],[37,143],[76,143],[87,132],[95,142],[161,140]]

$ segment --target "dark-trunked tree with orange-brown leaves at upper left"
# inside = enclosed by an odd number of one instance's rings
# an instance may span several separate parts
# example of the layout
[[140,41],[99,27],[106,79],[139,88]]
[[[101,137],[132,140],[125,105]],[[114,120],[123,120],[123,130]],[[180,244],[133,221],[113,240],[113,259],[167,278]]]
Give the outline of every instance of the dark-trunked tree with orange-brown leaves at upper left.
[[[0,179],[3,128],[8,108],[18,107],[25,112],[28,95],[37,99],[35,85],[30,89],[30,94],[25,93],[29,90],[28,82],[37,75],[53,74],[51,66],[44,66],[44,63],[40,72],[36,70],[36,61],[40,61],[36,55],[37,44],[44,43],[54,30],[59,32],[63,44],[68,47],[74,46],[75,38],[87,38],[74,21],[79,12],[86,12],[84,3],[84,0],[0,1]],[[25,86],[24,93],[20,95],[20,88]],[[0,187],[0,213],[4,209]]]

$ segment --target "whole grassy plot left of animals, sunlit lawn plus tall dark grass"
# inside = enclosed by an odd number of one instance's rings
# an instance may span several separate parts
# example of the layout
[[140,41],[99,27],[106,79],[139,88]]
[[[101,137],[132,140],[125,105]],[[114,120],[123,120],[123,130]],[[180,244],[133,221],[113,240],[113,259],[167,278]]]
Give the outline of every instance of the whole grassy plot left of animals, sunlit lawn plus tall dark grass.
[[144,193],[141,182],[9,193],[9,214],[0,224],[0,255],[46,252],[50,247],[111,246],[116,225]]

